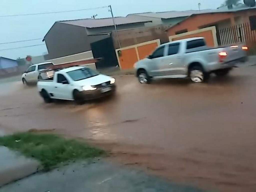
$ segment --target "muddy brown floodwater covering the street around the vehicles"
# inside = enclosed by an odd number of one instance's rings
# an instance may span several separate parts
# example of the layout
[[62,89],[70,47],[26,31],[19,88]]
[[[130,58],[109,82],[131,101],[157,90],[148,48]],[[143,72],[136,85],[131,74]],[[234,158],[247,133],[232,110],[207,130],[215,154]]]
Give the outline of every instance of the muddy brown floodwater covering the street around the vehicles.
[[86,138],[111,161],[174,182],[219,191],[256,191],[256,67],[209,83],[118,76],[113,98],[45,104],[36,87],[1,87],[0,130],[50,130]]

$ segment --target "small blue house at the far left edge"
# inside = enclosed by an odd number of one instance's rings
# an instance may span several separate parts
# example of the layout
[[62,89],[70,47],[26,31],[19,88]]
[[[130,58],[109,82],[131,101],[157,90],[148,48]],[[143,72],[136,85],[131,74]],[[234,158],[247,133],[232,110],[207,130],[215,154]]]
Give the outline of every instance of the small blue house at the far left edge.
[[8,73],[14,73],[18,70],[16,60],[0,57],[0,76],[5,76]]

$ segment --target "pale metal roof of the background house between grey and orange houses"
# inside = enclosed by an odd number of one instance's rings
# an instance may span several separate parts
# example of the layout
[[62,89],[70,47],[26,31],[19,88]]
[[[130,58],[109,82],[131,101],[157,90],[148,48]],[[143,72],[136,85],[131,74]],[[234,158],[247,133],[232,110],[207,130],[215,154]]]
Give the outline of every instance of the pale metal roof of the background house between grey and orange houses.
[[162,18],[162,19],[170,19],[177,17],[187,17],[193,14],[198,13],[209,13],[215,11],[214,9],[204,9],[204,10],[187,10],[187,11],[168,11],[168,12],[148,12],[148,13],[135,13],[129,15],[138,15],[144,17],[154,17],[154,18]]

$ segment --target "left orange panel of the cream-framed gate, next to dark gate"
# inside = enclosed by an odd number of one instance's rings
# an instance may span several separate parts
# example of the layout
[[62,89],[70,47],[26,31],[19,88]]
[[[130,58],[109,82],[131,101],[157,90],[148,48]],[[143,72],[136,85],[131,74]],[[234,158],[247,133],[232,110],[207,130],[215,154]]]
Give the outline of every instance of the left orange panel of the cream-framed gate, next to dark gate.
[[121,56],[119,56],[119,61],[122,69],[132,69],[134,63],[138,61],[136,49],[125,49],[121,51]]

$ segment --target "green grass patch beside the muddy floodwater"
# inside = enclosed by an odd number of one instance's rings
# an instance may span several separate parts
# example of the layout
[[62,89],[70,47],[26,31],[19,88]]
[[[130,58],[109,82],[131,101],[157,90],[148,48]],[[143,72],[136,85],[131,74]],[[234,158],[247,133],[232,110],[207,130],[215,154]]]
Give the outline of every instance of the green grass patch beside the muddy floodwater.
[[45,171],[63,162],[104,154],[103,150],[86,143],[53,134],[16,133],[0,137],[0,145],[19,151],[26,157],[37,159]]

